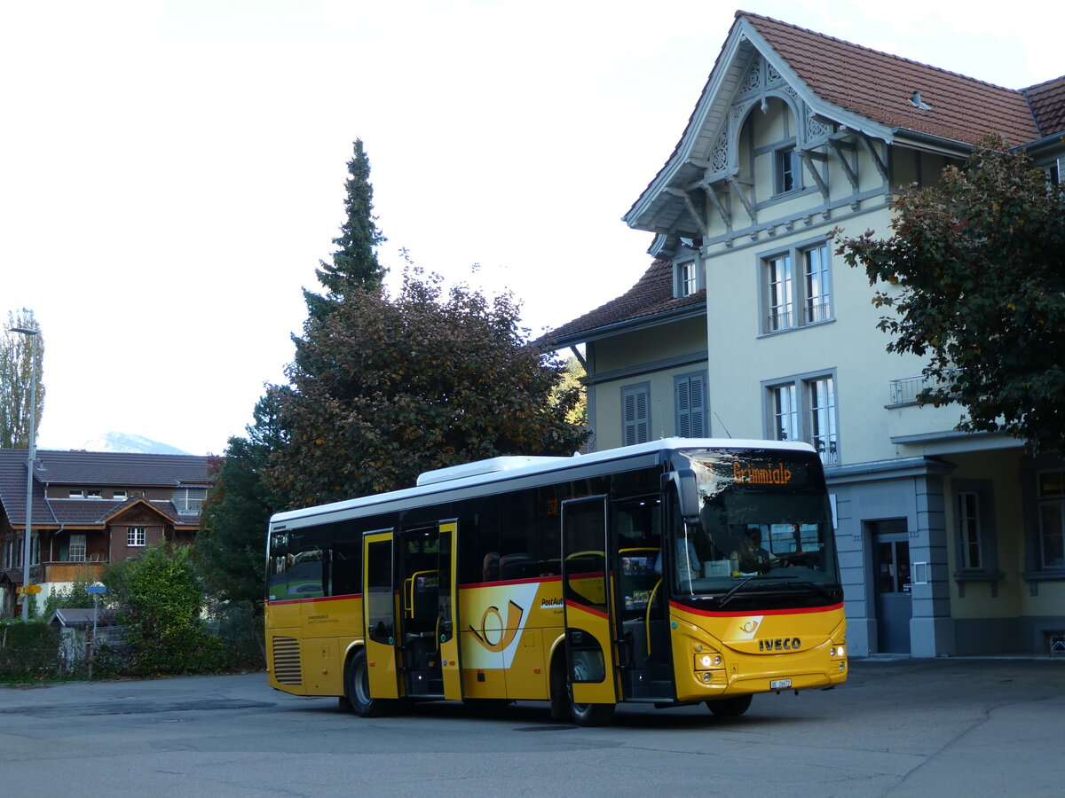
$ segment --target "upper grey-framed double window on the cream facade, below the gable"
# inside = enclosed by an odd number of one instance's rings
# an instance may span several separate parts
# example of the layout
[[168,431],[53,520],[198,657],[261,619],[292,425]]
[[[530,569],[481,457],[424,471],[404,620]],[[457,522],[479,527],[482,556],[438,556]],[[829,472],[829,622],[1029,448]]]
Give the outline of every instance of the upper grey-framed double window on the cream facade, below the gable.
[[764,253],[759,261],[761,334],[833,320],[832,252],[828,242],[803,242]]

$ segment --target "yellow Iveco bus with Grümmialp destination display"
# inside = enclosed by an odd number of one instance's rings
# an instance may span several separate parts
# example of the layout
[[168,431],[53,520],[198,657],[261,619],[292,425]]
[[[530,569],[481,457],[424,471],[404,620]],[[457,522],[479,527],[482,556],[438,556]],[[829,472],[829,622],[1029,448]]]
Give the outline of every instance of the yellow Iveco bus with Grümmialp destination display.
[[747,711],[847,678],[824,476],[805,444],[670,438],[496,458],[275,515],[271,686],[367,717],[423,700]]

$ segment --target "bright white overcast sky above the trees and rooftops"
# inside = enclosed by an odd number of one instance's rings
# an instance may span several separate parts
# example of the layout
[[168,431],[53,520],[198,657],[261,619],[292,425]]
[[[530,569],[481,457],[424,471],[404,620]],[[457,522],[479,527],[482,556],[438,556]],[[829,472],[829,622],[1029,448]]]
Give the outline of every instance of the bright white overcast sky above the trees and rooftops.
[[[620,217],[733,21],[717,0],[0,0],[0,319],[46,339],[38,445],[110,430],[222,453],[283,380],[371,159],[380,259],[539,333],[618,296]],[[1065,72],[1060,2],[746,10],[1010,88]],[[473,269],[473,264],[480,264]]]

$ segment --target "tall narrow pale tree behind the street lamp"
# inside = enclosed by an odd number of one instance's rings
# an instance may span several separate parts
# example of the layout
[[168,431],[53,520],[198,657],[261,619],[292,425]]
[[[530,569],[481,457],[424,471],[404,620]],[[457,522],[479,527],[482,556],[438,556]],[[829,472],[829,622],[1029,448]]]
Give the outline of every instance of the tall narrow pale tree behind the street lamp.
[[[28,449],[30,447],[30,394],[31,380],[36,380],[35,428],[40,429],[45,412],[45,384],[42,381],[45,358],[45,336],[11,332],[21,327],[39,330],[33,311],[23,307],[7,312],[7,326],[0,331],[0,449]],[[33,371],[36,346],[36,373]]]

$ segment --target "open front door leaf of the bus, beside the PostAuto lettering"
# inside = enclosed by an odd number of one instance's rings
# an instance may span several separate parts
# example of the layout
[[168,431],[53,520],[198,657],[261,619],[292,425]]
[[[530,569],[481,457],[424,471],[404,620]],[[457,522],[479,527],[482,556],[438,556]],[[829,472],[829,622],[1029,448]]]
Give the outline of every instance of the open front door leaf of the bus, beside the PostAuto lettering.
[[566,661],[576,703],[613,703],[605,496],[562,502],[562,597]]

